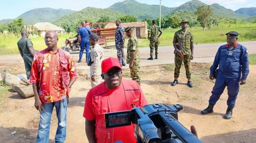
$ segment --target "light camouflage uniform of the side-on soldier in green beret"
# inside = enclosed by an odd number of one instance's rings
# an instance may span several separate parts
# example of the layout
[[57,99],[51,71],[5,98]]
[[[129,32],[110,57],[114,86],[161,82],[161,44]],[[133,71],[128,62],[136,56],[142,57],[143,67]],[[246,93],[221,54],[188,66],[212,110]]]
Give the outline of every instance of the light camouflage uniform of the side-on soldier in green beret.
[[140,84],[140,53],[139,53],[139,43],[136,36],[131,36],[129,38],[128,44],[127,44],[127,59],[126,63],[130,64],[131,61],[131,54],[135,50],[135,57],[133,61],[133,68],[130,69],[131,71],[131,78],[133,80],[136,80],[138,84]]

